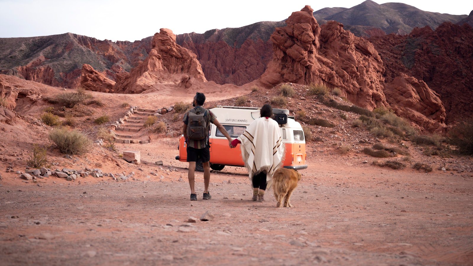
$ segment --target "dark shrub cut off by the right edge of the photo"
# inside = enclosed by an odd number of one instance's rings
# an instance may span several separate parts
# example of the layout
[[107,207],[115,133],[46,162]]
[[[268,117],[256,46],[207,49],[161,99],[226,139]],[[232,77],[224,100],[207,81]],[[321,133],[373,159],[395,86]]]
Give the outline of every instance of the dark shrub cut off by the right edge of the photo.
[[473,119],[455,125],[449,134],[448,142],[456,146],[456,151],[473,155]]

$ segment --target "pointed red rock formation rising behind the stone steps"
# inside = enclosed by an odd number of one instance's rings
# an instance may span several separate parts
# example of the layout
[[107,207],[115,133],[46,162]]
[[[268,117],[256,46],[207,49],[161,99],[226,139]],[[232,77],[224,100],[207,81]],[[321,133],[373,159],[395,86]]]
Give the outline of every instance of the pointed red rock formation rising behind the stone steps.
[[[130,73],[117,74],[115,92],[142,93],[163,82],[172,82],[173,75],[186,74],[190,79],[207,81],[197,56],[175,43],[170,29],[162,28],[154,35],[153,49],[144,62],[140,62]],[[185,82],[188,86],[191,80]],[[185,84],[184,84],[185,87]],[[188,88],[188,87],[187,87]]]

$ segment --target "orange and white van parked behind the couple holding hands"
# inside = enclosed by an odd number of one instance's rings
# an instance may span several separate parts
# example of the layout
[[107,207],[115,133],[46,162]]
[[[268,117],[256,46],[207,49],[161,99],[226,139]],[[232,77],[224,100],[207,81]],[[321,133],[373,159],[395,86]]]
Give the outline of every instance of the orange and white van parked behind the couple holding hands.
[[[227,130],[232,139],[241,135],[246,127],[255,119],[260,118],[260,108],[258,107],[238,107],[238,106],[217,106],[210,109],[217,116],[220,124]],[[288,110],[273,109],[274,113],[284,112],[289,114]],[[282,166],[290,169],[305,169],[306,164],[306,142],[304,131],[299,122],[294,117],[289,116],[285,124],[280,124],[282,142],[285,145],[286,152]],[[226,165],[244,167],[245,163],[241,157],[240,147],[230,149],[227,138],[214,125],[210,124],[209,133],[210,142],[210,168],[222,170]],[[187,160],[187,146],[184,141],[184,135],[179,140],[179,155],[176,160]],[[203,171],[202,162],[196,163],[196,170]]]

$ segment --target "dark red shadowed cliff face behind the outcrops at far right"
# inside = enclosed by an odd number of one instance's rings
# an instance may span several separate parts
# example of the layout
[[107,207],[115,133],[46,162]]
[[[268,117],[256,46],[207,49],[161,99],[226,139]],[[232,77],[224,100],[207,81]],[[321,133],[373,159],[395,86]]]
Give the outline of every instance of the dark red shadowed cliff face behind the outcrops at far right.
[[438,93],[446,123],[473,115],[473,28],[445,22],[435,31],[415,28],[409,35],[372,37],[385,62],[385,79],[405,73]]

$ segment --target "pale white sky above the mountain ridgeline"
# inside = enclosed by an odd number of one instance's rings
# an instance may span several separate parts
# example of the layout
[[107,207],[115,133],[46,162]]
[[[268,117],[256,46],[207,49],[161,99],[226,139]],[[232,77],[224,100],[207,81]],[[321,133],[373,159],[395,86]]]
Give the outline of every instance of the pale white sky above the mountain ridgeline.
[[[0,0],[0,37],[29,37],[71,32],[97,39],[134,41],[160,28],[175,34],[242,27],[258,21],[279,21],[310,5],[358,5],[363,0]],[[465,0],[393,0],[416,8],[455,15],[469,14]],[[375,0],[382,4],[386,0]],[[469,3],[468,3],[469,2]]]

